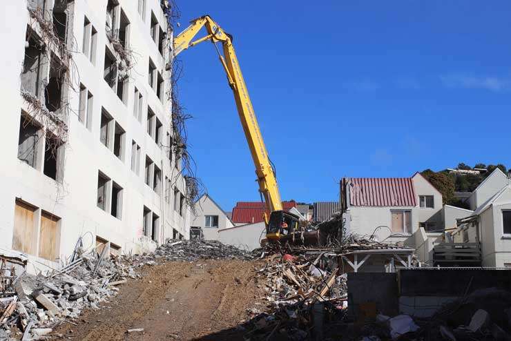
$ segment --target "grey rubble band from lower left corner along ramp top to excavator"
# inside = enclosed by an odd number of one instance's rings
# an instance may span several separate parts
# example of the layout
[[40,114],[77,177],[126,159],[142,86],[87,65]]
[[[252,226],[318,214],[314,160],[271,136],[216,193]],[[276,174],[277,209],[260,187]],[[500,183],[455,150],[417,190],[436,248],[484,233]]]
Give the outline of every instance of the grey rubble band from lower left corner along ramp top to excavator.
[[[99,309],[128,278],[140,277],[135,269],[158,261],[200,259],[250,260],[251,253],[215,241],[169,240],[154,253],[108,255],[109,245],[85,253],[77,246],[70,262],[45,275],[12,269],[0,271],[0,341],[39,340],[57,324],[77,318],[86,308]],[[8,275],[6,275],[6,273]]]

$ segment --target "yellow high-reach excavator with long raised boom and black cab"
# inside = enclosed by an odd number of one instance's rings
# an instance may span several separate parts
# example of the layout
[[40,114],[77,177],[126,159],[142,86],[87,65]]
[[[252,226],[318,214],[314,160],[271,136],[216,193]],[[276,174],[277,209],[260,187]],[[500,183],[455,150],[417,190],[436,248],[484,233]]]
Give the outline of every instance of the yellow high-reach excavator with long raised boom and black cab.
[[[202,28],[206,29],[207,35],[193,40]],[[292,240],[294,242],[295,238],[301,233],[299,231],[300,220],[298,216],[282,209],[275,169],[271,165],[266,146],[264,146],[262,140],[258,120],[253,112],[249,91],[245,85],[240,64],[238,64],[234,51],[233,37],[222,30],[209,15],[204,15],[193,19],[191,25],[174,38],[173,55],[175,57],[183,50],[203,41],[211,41],[215,46],[229,86],[233,90],[240,121],[252,154],[255,174],[258,177],[259,192],[266,203],[267,213],[264,213],[264,222],[267,226],[267,240],[270,242]],[[217,43],[222,44],[223,55]],[[303,234],[301,235],[303,236]]]

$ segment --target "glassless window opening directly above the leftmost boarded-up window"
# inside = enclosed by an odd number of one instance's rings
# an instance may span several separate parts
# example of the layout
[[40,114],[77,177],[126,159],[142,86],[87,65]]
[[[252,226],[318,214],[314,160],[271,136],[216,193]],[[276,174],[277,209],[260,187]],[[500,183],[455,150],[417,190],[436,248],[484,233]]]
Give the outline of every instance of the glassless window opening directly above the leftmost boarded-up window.
[[42,142],[41,137],[41,128],[29,117],[21,115],[19,124],[18,159],[36,169],[38,168],[37,153],[39,153],[39,144]]

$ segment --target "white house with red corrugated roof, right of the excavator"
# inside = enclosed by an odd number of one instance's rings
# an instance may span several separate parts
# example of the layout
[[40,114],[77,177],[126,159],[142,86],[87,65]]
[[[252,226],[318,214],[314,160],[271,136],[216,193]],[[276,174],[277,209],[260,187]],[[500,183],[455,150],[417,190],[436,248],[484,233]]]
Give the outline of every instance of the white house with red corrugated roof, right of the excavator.
[[443,231],[442,195],[415,173],[407,178],[354,178],[341,181],[340,206],[351,233],[413,244],[419,227]]

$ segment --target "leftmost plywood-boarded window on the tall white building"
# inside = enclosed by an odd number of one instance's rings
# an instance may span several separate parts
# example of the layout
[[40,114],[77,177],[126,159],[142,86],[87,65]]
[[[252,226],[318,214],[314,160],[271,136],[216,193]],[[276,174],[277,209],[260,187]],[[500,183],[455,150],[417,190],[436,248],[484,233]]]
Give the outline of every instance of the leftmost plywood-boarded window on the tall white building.
[[16,200],[15,228],[12,234],[12,249],[35,255],[37,252],[37,224],[35,211],[37,208]]

